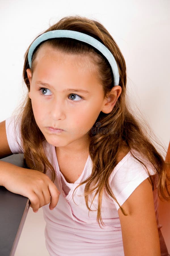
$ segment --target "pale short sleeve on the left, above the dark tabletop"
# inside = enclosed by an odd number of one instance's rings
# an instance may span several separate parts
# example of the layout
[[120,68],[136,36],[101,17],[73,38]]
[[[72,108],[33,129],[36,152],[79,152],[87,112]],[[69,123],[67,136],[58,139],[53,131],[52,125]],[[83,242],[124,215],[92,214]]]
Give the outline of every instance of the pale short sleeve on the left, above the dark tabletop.
[[14,115],[5,121],[7,140],[11,152],[13,154],[23,153],[21,133],[20,133],[20,119]]

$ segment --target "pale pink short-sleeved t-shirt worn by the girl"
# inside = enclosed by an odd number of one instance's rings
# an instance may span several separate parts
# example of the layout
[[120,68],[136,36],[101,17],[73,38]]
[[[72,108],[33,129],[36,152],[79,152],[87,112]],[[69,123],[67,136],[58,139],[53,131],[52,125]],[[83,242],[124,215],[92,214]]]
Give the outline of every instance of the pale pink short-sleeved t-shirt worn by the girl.
[[[7,139],[12,153],[23,152],[20,139],[19,124],[14,129],[14,118],[6,120]],[[45,153],[54,167],[56,178],[54,184],[60,191],[60,197],[54,210],[49,205],[43,206],[44,219],[46,221],[45,239],[46,247],[51,256],[66,255],[97,255],[97,256],[123,256],[123,242],[121,225],[118,215],[119,205],[104,193],[102,198],[101,215],[104,227],[100,228],[96,222],[97,198],[92,204],[92,210],[87,209],[83,196],[84,185],[75,190],[74,201],[72,198],[75,187],[91,175],[92,161],[88,157],[81,176],[75,183],[68,183],[60,172],[56,157],[55,147],[44,143]],[[133,151],[133,153],[137,152]],[[140,156],[138,156],[140,157]],[[153,168],[147,164],[153,175]],[[69,168],[69,166],[68,166]],[[47,175],[50,174],[47,172]],[[112,191],[122,205],[137,186],[148,177],[146,169],[129,152],[114,168],[110,176]],[[158,229],[158,201],[157,189],[153,191],[154,206]],[[90,202],[89,202],[90,205]],[[146,227],[147,229],[147,227]],[[166,251],[163,237],[160,237],[161,256],[169,255]]]

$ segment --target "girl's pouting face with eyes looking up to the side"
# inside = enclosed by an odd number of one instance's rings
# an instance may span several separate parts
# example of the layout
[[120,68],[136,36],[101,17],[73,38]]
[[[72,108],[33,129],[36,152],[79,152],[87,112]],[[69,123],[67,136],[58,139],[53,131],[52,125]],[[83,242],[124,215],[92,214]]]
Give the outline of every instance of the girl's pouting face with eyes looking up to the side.
[[87,141],[100,111],[111,111],[95,65],[88,56],[66,54],[50,46],[42,46],[35,61],[33,75],[27,69],[29,97],[45,139],[56,147]]

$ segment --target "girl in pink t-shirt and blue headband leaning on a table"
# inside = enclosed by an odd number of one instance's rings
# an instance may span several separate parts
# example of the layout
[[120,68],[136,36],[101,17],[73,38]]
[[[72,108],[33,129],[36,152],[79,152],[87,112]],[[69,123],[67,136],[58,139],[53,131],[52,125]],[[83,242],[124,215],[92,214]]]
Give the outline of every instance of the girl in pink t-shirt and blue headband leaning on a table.
[[[125,100],[126,65],[95,20],[68,16],[25,54],[22,113],[1,123],[1,184],[43,207],[54,255],[169,255],[158,223],[167,163]],[[165,194],[165,190],[167,194]]]

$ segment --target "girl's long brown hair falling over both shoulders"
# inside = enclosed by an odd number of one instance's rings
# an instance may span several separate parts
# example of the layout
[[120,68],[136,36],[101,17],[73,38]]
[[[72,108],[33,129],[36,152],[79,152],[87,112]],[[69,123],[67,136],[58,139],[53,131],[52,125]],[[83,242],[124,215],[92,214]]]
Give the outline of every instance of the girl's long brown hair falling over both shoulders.
[[[139,152],[139,155],[144,156],[147,160],[149,160],[159,177],[159,197],[162,196],[164,199],[169,199],[170,194],[168,191],[167,179],[168,163],[163,160],[161,154],[151,143],[150,137],[147,135],[147,130],[144,128],[142,123],[132,114],[132,111],[126,102],[126,65],[123,55],[116,42],[106,30],[106,28],[100,24],[100,22],[96,20],[90,20],[78,15],[64,17],[53,26],[50,26],[50,28],[44,32],[59,29],[75,30],[93,36],[112,52],[119,68],[119,86],[122,88],[121,95],[119,96],[112,112],[108,114],[100,112],[95,124],[92,127],[93,131],[95,130],[97,132],[92,132],[92,129],[89,132],[91,138],[89,145],[89,155],[93,162],[93,169],[91,176],[79,184],[80,186],[86,183],[85,202],[87,208],[91,210],[91,206],[89,206],[88,203],[89,195],[94,193],[93,199],[98,195],[97,221],[100,225],[100,223],[103,224],[101,217],[101,202],[103,191],[105,190],[108,195],[110,195],[117,202],[112,192],[112,188],[109,185],[109,177],[117,164],[117,156],[122,148],[126,148],[128,151],[131,151],[133,157],[137,159],[142,165],[144,165],[147,170],[148,168],[145,163],[133,154],[133,149]],[[108,64],[108,61],[103,56],[101,56],[96,49],[83,42],[67,38],[51,39],[48,40],[46,44],[53,47],[54,49],[60,49],[66,53],[88,55],[98,67],[98,76],[101,84],[103,85],[104,95],[106,96],[107,93],[111,91],[114,78],[110,65]],[[35,49],[33,54],[31,69],[32,73],[36,65],[36,56],[39,49],[40,46]],[[23,78],[29,92],[30,83],[26,73],[26,69],[29,68],[28,50],[25,53]],[[47,169],[49,169],[51,171],[52,181],[54,182],[55,171],[45,155],[43,149],[43,141],[45,141],[45,138],[35,122],[31,100],[28,96],[22,111],[21,135],[24,146],[24,158],[27,166],[29,168],[39,170],[43,173],[46,173]],[[154,179],[151,178],[150,182],[152,183],[153,187]],[[93,184],[93,187],[91,184]],[[165,193],[165,190],[167,193]],[[117,203],[119,205],[119,202]],[[119,205],[119,207],[123,214],[127,215],[121,205]]]

